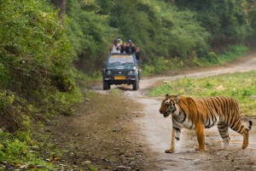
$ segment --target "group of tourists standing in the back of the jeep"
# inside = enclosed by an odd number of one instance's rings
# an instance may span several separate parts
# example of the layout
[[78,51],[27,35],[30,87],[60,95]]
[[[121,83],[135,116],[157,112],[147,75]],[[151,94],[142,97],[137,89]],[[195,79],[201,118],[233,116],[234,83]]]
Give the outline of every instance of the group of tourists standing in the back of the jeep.
[[134,46],[134,43],[132,43],[131,40],[128,41],[128,43],[122,43],[120,44],[121,39],[114,39],[113,43],[109,47],[110,53],[122,53],[122,54],[135,54],[136,55],[136,60],[137,64],[140,64],[140,47]]

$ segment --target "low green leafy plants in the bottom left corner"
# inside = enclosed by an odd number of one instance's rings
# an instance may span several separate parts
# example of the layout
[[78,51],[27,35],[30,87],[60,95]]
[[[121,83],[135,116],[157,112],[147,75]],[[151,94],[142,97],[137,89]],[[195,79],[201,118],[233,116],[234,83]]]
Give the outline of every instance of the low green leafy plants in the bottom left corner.
[[53,170],[52,164],[40,158],[37,142],[31,134],[0,131],[0,170]]

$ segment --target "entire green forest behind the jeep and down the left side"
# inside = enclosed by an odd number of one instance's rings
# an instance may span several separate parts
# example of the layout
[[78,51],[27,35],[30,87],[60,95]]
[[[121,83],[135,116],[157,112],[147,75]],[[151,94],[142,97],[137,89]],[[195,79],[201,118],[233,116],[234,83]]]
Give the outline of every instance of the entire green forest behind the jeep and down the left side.
[[113,39],[140,46],[148,74],[218,65],[232,47],[254,48],[255,9],[253,0],[0,0],[0,161],[18,160],[24,146],[8,142],[31,145],[33,124],[73,114]]

